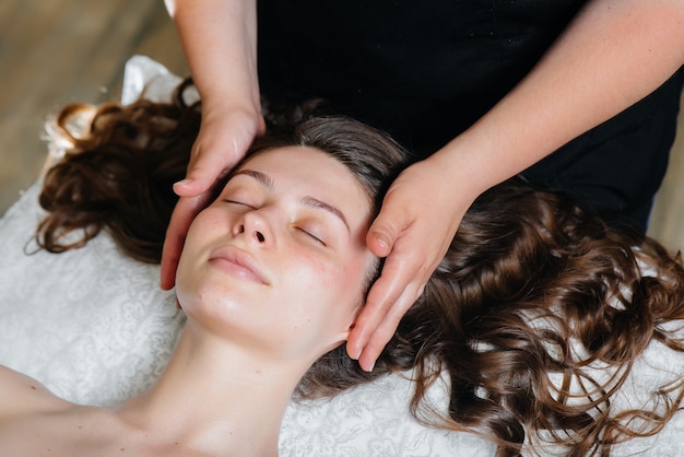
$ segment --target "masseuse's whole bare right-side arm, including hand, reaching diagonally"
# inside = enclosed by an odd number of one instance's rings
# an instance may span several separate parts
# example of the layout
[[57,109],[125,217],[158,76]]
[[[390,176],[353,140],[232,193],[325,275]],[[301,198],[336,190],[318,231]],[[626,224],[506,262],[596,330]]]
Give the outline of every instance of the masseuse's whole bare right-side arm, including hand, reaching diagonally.
[[367,238],[388,257],[350,355],[373,366],[481,192],[636,103],[683,62],[684,1],[591,1],[510,94],[391,186]]

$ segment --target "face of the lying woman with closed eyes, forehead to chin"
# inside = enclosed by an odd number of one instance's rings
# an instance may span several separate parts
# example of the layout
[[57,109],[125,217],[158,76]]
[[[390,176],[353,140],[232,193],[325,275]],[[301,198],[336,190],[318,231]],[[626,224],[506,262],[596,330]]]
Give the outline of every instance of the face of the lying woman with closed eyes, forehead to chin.
[[373,254],[370,200],[312,148],[262,152],[192,223],[176,292],[212,332],[312,362],[346,338]]

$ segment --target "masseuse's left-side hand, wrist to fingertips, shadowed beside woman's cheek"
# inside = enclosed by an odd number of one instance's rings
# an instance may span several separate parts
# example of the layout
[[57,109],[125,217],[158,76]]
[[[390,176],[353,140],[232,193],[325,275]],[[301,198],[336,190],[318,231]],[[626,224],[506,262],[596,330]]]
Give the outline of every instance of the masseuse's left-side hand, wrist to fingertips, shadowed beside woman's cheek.
[[180,196],[166,230],[162,253],[162,289],[176,281],[176,267],[190,223],[213,195],[221,180],[244,156],[256,136],[266,129],[260,113],[234,106],[202,108],[202,125],[186,178],[174,185]]

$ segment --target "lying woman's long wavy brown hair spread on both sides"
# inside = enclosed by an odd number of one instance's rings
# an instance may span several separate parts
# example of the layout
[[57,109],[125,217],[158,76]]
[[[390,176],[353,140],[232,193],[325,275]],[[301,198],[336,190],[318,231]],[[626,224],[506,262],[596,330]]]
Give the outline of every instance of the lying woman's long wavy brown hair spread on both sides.
[[[176,201],[170,185],[185,174],[200,122],[199,107],[182,101],[187,84],[169,104],[62,110],[56,125],[73,148],[45,177],[40,246],[61,251],[107,230],[128,255],[160,261]],[[84,113],[92,115],[90,129],[74,134],[69,121]],[[271,122],[255,153],[285,144],[338,151],[376,204],[406,164],[401,147],[362,124],[285,118]],[[519,455],[523,443],[531,450],[555,443],[567,455],[608,455],[615,443],[657,433],[682,405],[679,378],[654,392],[664,409],[611,410],[613,394],[651,341],[684,351],[667,329],[684,319],[683,302],[679,256],[514,179],[468,211],[373,373],[341,347],[311,366],[296,394],[330,396],[411,370],[412,412],[431,425],[493,440],[502,456]],[[595,378],[595,364],[610,375]],[[439,376],[449,383],[444,413],[423,401]]]

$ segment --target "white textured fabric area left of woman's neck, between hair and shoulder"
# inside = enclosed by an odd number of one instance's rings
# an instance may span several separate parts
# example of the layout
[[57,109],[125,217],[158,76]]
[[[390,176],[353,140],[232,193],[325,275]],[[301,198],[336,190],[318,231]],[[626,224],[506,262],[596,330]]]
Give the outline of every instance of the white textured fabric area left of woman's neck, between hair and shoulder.
[[76,402],[119,402],[160,374],[184,314],[155,286],[158,267],[123,256],[107,235],[59,255],[36,250],[38,190],[0,221],[0,363]]

